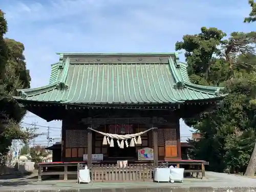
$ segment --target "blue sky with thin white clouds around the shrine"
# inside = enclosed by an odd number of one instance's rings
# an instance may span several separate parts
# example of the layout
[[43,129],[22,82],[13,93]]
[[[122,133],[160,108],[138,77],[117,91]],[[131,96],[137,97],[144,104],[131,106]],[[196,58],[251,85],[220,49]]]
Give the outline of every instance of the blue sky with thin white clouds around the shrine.
[[[174,52],[176,41],[202,26],[227,34],[255,29],[243,23],[247,0],[0,0],[0,7],[8,21],[6,37],[25,45],[32,88],[48,83],[55,52]],[[60,121],[47,123],[33,114],[24,122],[61,127]],[[182,139],[189,135],[181,123]],[[51,129],[51,137],[59,138],[60,129]],[[45,137],[36,142],[47,143]]]

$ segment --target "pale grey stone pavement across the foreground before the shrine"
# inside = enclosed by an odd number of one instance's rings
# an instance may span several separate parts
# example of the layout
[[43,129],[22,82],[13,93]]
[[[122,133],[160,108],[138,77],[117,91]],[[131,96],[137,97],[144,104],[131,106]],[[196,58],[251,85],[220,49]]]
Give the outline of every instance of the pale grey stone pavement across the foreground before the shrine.
[[[2,186],[1,186],[2,185]],[[0,192],[256,192],[256,178],[206,172],[206,179],[185,179],[184,183],[120,182],[77,184],[75,181],[1,181]]]

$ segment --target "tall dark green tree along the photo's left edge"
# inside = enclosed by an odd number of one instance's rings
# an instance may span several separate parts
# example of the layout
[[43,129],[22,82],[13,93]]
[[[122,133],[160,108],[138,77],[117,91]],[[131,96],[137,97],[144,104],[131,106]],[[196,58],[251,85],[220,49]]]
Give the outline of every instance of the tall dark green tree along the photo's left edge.
[[13,139],[27,140],[35,135],[20,127],[26,111],[13,99],[16,89],[29,88],[30,76],[23,55],[24,45],[4,38],[7,21],[0,10],[0,162],[9,151]]

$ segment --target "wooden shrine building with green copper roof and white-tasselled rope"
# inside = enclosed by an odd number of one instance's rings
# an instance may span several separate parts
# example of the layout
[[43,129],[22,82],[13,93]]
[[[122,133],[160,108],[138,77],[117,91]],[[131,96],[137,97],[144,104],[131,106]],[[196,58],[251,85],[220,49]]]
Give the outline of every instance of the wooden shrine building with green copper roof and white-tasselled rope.
[[191,83],[177,53],[58,55],[49,83],[18,90],[15,99],[47,121],[62,121],[61,162],[181,160],[180,118],[225,97],[223,88]]

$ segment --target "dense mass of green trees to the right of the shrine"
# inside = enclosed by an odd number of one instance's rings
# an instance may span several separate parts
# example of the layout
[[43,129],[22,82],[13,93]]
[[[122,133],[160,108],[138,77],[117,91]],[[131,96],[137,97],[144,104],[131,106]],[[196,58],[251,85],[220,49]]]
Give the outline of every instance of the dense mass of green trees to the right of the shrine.
[[202,134],[200,141],[189,141],[192,158],[209,161],[210,170],[244,173],[256,139],[256,38],[253,32],[234,32],[227,40],[224,36],[216,28],[202,28],[176,44],[176,50],[185,50],[194,83],[224,86],[229,93],[216,110],[185,122]]

